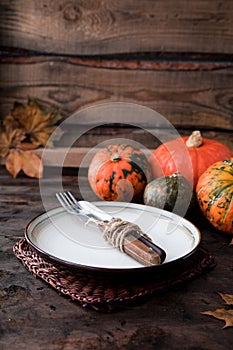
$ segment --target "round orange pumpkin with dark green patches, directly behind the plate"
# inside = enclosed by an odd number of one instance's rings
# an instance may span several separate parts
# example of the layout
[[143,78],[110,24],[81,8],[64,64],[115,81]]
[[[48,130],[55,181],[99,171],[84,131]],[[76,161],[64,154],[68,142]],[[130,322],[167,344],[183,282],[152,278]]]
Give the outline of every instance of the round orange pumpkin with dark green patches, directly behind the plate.
[[126,144],[100,149],[88,169],[92,190],[107,201],[141,201],[150,177],[150,164],[144,153]]

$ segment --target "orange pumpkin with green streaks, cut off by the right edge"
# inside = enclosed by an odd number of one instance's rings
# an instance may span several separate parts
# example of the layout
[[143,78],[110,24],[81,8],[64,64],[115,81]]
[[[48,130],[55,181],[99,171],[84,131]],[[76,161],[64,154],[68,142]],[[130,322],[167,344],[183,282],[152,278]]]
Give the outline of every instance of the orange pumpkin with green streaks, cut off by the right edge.
[[233,158],[212,164],[200,176],[196,194],[211,224],[233,234]]

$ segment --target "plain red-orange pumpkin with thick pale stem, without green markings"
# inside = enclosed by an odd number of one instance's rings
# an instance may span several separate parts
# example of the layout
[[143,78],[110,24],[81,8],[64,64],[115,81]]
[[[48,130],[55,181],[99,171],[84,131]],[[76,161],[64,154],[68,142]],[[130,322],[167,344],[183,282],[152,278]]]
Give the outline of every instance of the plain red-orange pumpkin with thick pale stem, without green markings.
[[201,137],[199,131],[160,145],[150,157],[153,176],[180,172],[196,187],[200,175],[213,163],[230,158],[231,150],[220,142]]

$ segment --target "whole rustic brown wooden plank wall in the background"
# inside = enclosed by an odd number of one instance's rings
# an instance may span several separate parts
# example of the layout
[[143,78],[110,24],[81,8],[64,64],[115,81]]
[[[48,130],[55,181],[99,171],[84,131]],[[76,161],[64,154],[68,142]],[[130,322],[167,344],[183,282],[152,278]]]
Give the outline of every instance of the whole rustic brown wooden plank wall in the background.
[[2,0],[0,31],[1,116],[133,102],[233,146],[232,0]]

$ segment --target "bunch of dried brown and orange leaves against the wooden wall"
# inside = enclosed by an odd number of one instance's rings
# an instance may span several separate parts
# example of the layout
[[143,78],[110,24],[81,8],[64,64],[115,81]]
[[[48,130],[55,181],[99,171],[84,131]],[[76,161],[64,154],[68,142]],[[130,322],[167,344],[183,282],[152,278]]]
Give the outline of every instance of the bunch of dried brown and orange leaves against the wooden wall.
[[6,157],[6,168],[14,177],[20,170],[30,177],[42,177],[42,161],[30,150],[52,146],[62,136],[56,126],[60,119],[57,110],[45,109],[35,100],[29,99],[26,106],[14,104],[0,125],[0,157]]

